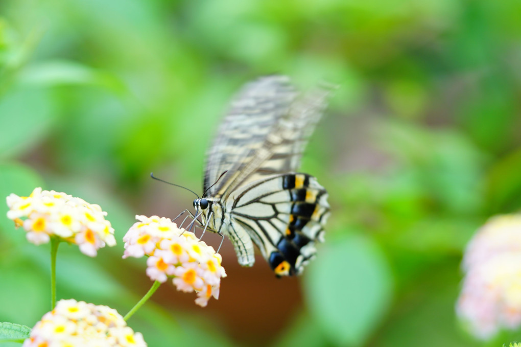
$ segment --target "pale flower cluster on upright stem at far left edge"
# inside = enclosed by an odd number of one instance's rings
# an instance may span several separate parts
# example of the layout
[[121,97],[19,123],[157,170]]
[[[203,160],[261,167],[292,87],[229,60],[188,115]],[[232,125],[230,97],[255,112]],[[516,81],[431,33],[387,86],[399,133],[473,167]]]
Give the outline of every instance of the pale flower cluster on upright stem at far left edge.
[[96,256],[105,245],[114,246],[114,229],[99,205],[54,190],[35,188],[29,196],[7,196],[7,218],[23,226],[29,242],[47,243],[52,236],[79,245],[80,251]]

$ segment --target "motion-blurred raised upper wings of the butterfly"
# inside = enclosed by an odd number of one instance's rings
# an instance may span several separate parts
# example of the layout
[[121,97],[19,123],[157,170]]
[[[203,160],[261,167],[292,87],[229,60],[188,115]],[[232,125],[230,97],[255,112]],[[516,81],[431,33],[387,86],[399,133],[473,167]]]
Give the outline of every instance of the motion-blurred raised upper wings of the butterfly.
[[232,101],[207,155],[204,190],[227,171],[208,195],[226,199],[237,187],[295,171],[328,93],[320,88],[299,97],[285,76],[247,84]]

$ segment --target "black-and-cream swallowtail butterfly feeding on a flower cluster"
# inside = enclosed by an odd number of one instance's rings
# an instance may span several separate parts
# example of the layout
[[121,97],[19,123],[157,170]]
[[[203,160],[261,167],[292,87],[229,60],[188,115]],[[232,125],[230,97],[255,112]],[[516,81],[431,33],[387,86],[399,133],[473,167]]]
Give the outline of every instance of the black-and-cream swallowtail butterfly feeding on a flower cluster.
[[300,95],[288,77],[268,76],[233,98],[207,153],[205,193],[192,217],[227,236],[240,265],[253,266],[255,244],[277,277],[299,275],[324,241],[328,194],[296,170],[328,94]]

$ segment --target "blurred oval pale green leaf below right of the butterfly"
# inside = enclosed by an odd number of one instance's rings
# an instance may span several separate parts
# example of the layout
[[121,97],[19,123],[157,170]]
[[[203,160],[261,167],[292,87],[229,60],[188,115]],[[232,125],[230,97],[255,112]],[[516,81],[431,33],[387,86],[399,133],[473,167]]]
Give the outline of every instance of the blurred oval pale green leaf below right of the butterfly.
[[377,245],[356,236],[329,242],[308,271],[306,299],[317,324],[339,345],[362,345],[392,296],[390,269]]

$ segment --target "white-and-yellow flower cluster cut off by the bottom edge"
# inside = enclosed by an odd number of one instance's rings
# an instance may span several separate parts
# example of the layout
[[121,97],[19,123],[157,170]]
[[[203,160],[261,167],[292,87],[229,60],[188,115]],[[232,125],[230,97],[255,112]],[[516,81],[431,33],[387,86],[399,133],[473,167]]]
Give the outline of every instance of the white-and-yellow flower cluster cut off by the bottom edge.
[[58,301],[36,323],[22,347],[41,346],[144,347],[146,342],[115,309],[70,299]]

